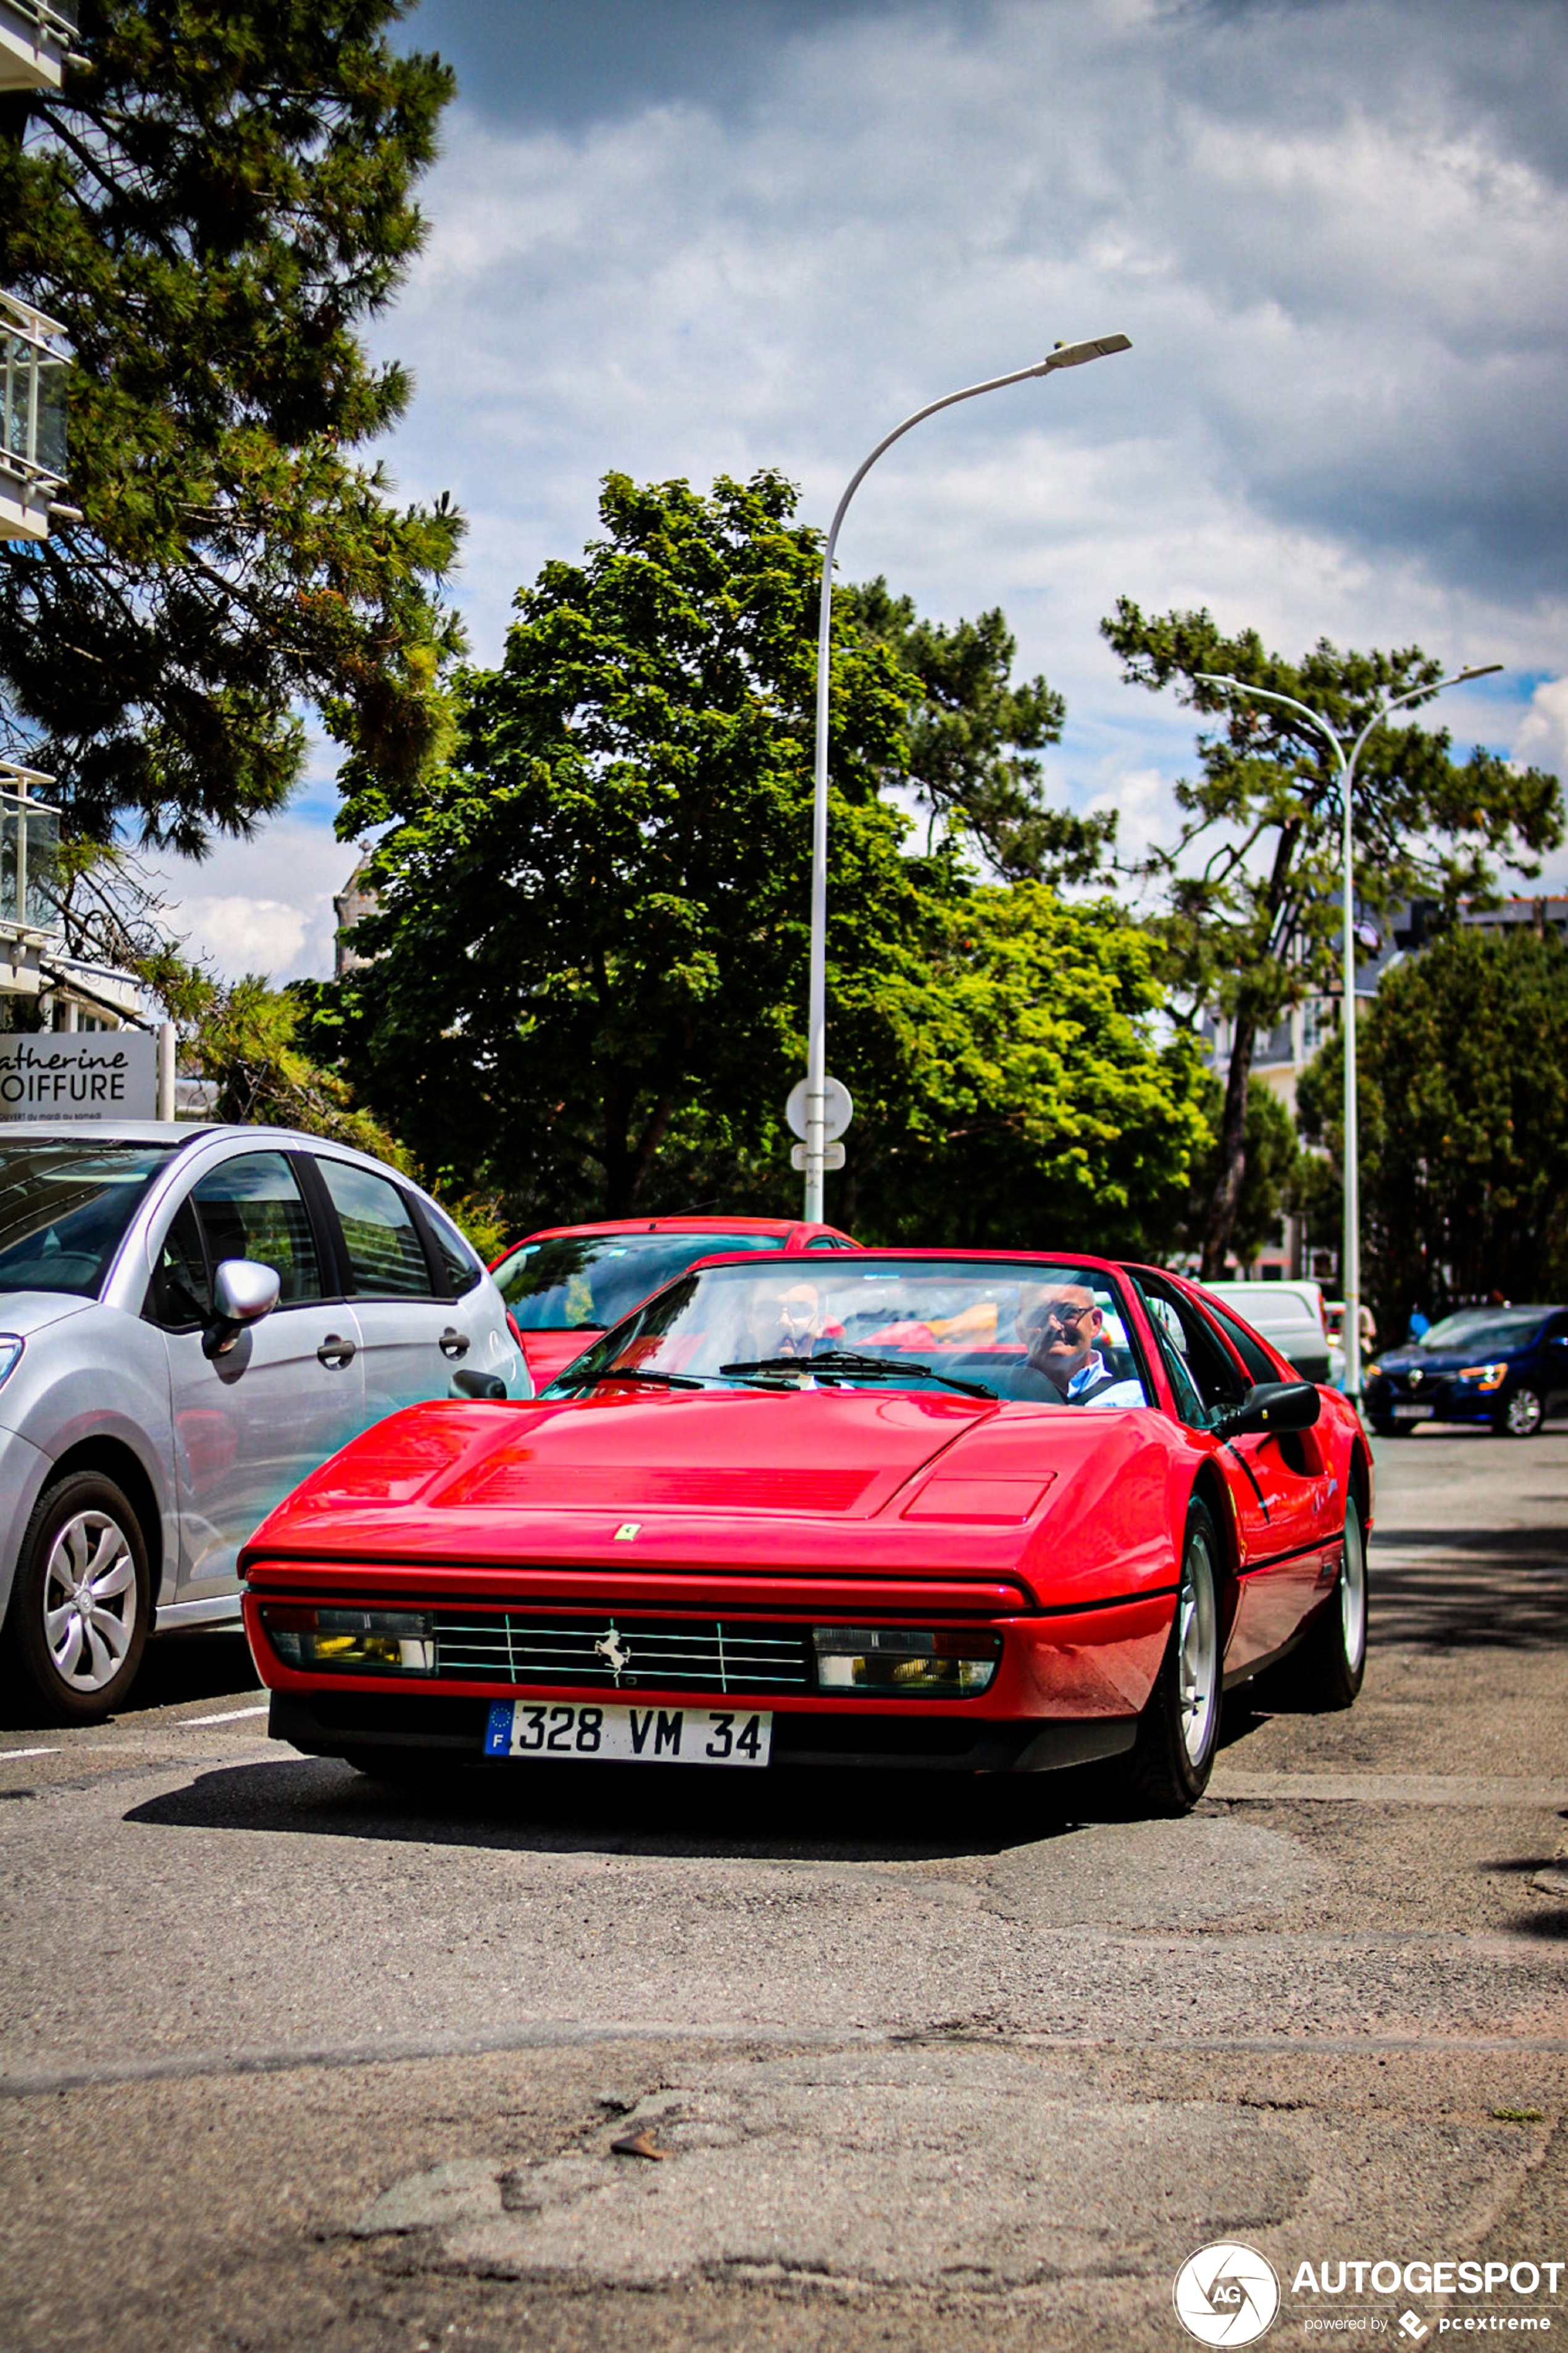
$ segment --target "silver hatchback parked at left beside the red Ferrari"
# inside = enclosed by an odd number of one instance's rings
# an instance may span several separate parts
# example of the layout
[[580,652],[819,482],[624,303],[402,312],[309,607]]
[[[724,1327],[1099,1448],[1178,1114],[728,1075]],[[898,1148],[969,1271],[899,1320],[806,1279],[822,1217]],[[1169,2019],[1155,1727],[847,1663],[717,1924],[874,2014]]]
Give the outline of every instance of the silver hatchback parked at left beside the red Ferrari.
[[54,1720],[418,1398],[527,1398],[501,1292],[407,1176],[280,1127],[0,1127],[0,1678]]

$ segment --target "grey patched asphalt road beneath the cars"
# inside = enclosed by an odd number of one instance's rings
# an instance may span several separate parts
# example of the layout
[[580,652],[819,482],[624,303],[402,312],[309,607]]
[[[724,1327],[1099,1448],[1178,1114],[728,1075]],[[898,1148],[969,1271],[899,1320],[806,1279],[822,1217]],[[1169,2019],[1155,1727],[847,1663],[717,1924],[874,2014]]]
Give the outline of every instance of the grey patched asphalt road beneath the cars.
[[[1568,2329],[1516,2268],[1568,2266],[1568,1435],[1380,1480],[1359,1706],[1229,1706],[1180,1824],[1063,1779],[393,1795],[270,1746],[233,1642],[0,1729],[0,2346],[1178,2346],[1232,2238],[1269,2344]],[[1410,2261],[1481,2292],[1368,2271]]]

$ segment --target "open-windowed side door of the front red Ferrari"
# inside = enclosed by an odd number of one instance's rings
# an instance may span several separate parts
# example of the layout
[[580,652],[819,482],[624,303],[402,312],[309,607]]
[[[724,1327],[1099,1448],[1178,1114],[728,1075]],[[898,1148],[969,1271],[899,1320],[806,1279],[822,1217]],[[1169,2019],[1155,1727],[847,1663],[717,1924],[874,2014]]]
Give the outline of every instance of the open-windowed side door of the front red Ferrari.
[[[1251,1386],[1206,1315],[1175,1285],[1143,1280],[1182,1421],[1208,1428]],[[1173,1362],[1175,1360],[1175,1362]],[[1269,1377],[1279,1372],[1269,1367]],[[1291,1640],[1321,1598],[1328,1475],[1312,1431],[1248,1433],[1218,1447],[1218,1466],[1237,1508],[1241,1595],[1225,1652],[1227,1668],[1248,1666]]]

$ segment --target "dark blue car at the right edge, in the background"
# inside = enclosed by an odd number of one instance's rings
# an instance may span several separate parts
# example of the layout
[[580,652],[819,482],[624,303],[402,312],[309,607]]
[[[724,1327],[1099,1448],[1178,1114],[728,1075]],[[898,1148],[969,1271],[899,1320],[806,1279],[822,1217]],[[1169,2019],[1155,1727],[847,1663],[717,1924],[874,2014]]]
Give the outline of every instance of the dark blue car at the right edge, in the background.
[[1568,1308],[1460,1308],[1413,1348],[1366,1367],[1366,1412],[1380,1438],[1418,1421],[1483,1421],[1535,1438],[1568,1405]]

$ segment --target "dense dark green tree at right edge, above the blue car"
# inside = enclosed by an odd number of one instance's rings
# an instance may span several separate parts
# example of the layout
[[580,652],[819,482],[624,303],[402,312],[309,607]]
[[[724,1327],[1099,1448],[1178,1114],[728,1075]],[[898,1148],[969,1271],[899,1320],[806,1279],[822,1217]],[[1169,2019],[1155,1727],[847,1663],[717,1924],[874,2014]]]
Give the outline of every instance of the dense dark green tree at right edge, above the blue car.
[[[1345,1061],[1302,1073],[1338,1193]],[[1568,1297],[1568,948],[1458,927],[1385,974],[1356,1031],[1361,1247],[1382,1334],[1493,1289]],[[1338,1209],[1338,1200],[1333,1202]]]

